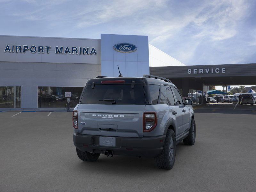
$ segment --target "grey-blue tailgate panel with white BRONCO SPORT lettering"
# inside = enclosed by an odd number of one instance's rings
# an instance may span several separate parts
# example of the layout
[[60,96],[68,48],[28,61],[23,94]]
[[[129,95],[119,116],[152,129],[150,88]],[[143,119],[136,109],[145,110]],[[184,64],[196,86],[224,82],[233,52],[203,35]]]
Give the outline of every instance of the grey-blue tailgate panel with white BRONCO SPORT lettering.
[[143,137],[145,105],[79,104],[77,111],[80,134]]

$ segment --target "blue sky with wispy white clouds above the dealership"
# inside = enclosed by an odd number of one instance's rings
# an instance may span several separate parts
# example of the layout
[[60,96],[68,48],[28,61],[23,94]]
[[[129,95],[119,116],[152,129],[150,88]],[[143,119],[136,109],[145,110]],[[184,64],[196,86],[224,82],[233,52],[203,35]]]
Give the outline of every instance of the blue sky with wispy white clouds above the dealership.
[[0,35],[146,35],[185,65],[256,62],[255,0],[0,0]]

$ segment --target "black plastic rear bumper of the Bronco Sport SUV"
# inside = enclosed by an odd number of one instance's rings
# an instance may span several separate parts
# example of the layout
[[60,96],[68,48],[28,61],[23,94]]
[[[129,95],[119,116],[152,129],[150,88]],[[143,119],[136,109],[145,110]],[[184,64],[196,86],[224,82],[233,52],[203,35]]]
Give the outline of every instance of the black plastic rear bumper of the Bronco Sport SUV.
[[114,155],[156,157],[164,146],[165,135],[157,137],[116,137],[116,147],[100,146],[100,136],[73,134],[74,145],[83,152],[104,153],[113,151]]

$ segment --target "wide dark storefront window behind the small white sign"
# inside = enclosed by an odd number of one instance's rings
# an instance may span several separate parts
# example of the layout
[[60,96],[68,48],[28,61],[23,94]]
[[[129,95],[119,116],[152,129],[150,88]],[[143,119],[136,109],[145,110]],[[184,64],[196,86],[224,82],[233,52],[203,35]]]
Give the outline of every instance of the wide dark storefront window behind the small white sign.
[[71,106],[75,107],[82,91],[83,87],[37,87],[37,107],[65,108],[67,101],[65,92],[71,92]]

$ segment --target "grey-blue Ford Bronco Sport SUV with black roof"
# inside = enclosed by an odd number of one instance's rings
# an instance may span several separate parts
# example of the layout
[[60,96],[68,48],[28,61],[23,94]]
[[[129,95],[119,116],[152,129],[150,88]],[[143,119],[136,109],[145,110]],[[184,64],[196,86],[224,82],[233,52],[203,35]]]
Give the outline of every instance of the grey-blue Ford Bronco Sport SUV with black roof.
[[176,144],[195,143],[191,105],[169,79],[90,79],[73,111],[77,156],[83,161],[96,161],[101,153],[154,157],[158,168],[172,169]]

